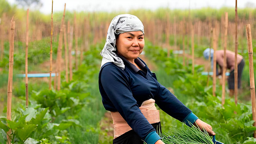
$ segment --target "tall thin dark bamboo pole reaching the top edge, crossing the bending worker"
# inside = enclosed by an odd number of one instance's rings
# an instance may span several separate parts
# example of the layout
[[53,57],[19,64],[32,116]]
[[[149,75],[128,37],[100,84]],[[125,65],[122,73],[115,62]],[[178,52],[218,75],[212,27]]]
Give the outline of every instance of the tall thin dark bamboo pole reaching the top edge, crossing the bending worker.
[[237,105],[237,0],[236,0],[236,8],[235,8],[235,13],[236,13],[236,46],[235,46],[235,103]]

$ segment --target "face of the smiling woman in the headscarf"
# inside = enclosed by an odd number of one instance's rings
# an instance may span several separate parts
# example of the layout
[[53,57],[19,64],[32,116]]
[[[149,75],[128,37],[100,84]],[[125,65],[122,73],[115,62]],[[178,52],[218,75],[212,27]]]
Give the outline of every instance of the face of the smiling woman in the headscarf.
[[132,63],[142,52],[144,44],[144,35],[141,31],[119,34],[116,39],[117,52]]

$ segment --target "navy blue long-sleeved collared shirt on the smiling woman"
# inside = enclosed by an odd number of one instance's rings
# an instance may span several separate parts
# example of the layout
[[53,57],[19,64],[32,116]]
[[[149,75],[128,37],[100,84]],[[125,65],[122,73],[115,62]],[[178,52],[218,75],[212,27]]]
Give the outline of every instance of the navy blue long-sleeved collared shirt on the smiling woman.
[[142,140],[155,131],[139,109],[145,100],[154,99],[159,108],[180,121],[190,119],[192,123],[195,122],[197,117],[190,116],[194,115],[192,111],[157,81],[156,74],[149,70],[143,60],[134,60],[140,70],[122,56],[119,57],[124,61],[124,69],[108,62],[99,73],[99,89],[106,110],[118,111]]

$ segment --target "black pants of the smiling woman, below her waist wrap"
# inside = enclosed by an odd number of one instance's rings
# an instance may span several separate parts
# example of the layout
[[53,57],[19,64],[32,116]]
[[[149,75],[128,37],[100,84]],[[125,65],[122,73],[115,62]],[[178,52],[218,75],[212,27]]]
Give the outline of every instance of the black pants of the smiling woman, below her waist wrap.
[[[156,129],[157,133],[159,133],[159,130],[162,133],[160,122],[154,123],[151,125]],[[113,140],[113,144],[143,144],[143,143],[144,141],[141,140],[139,135],[133,130],[125,132],[124,134],[120,135],[119,137]]]

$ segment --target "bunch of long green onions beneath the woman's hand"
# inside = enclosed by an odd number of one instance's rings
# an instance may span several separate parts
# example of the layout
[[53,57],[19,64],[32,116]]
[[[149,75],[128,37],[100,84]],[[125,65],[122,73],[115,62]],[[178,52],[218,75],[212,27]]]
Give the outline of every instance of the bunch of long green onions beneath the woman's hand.
[[184,129],[172,127],[169,134],[160,134],[165,144],[214,144],[212,138],[206,132],[191,124],[185,125]]

